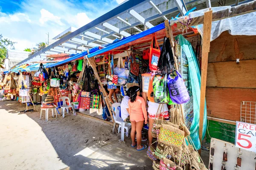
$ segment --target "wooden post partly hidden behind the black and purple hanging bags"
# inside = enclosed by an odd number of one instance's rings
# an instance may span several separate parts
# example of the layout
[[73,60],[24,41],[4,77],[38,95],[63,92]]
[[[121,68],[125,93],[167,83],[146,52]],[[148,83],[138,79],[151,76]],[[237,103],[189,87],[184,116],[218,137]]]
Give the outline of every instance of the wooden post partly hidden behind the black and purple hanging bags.
[[[175,61],[175,64],[174,64],[175,69],[179,70],[179,66],[178,66],[178,63],[177,63],[177,57],[175,56],[175,53],[174,53],[174,41],[173,41],[172,27],[169,24],[169,20],[165,20],[164,25],[165,25],[165,28],[166,28],[166,36],[169,38],[170,43],[171,43],[172,55],[173,55],[174,61]],[[183,123],[185,123],[182,105],[180,105],[180,110],[181,110],[181,116],[182,116],[182,119],[183,119]]]

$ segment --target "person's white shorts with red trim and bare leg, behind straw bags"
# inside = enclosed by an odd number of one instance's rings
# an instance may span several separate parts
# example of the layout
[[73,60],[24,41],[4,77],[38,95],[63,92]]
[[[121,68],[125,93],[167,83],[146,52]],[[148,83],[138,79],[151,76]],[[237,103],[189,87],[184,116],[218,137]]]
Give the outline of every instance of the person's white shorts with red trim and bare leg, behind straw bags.
[[[152,127],[153,127],[153,122],[154,119],[157,119],[157,109],[160,104],[155,103],[155,102],[148,102],[148,146],[152,144],[153,136],[151,134]],[[160,112],[160,115],[158,119],[168,119],[169,118],[169,112],[168,112],[168,107],[166,104],[161,104],[163,105],[163,109]],[[161,107],[161,106],[160,106]]]

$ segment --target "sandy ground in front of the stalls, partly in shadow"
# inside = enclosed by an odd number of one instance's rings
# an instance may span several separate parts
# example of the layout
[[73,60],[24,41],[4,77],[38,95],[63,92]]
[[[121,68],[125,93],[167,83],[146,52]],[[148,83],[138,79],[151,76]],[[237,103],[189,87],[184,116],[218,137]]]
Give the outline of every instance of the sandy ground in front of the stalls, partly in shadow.
[[130,147],[130,137],[120,142],[108,124],[73,114],[56,119],[51,113],[45,122],[44,112],[39,120],[39,112],[21,110],[25,104],[0,102],[1,170],[152,169],[146,150]]

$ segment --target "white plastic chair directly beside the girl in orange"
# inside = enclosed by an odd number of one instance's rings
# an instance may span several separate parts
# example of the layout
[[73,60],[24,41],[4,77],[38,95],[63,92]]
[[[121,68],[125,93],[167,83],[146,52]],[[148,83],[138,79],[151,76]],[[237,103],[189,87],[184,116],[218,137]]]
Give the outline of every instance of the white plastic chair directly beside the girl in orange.
[[116,113],[116,116],[113,115],[115,122],[114,122],[112,133],[114,133],[116,123],[118,123],[119,124],[118,133],[120,132],[120,128],[121,128],[121,141],[124,141],[125,130],[126,130],[126,137],[128,137],[129,130],[131,129],[131,123],[127,123],[123,121],[123,119],[120,117],[120,107],[119,107],[120,105],[121,105],[120,103],[113,103],[112,105],[112,110]]

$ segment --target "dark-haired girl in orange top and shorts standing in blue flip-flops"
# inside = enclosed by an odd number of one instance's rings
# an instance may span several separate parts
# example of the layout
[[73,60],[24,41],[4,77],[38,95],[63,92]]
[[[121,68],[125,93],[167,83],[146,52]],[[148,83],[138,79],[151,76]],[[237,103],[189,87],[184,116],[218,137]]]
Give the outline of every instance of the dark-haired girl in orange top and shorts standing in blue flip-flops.
[[[141,130],[143,124],[148,123],[148,116],[145,101],[140,95],[140,87],[134,86],[130,92],[130,100],[128,103],[129,115],[131,121],[131,147],[137,145],[137,150],[143,150],[147,148],[147,145],[141,144]],[[137,143],[135,141],[135,132],[137,133]]]

